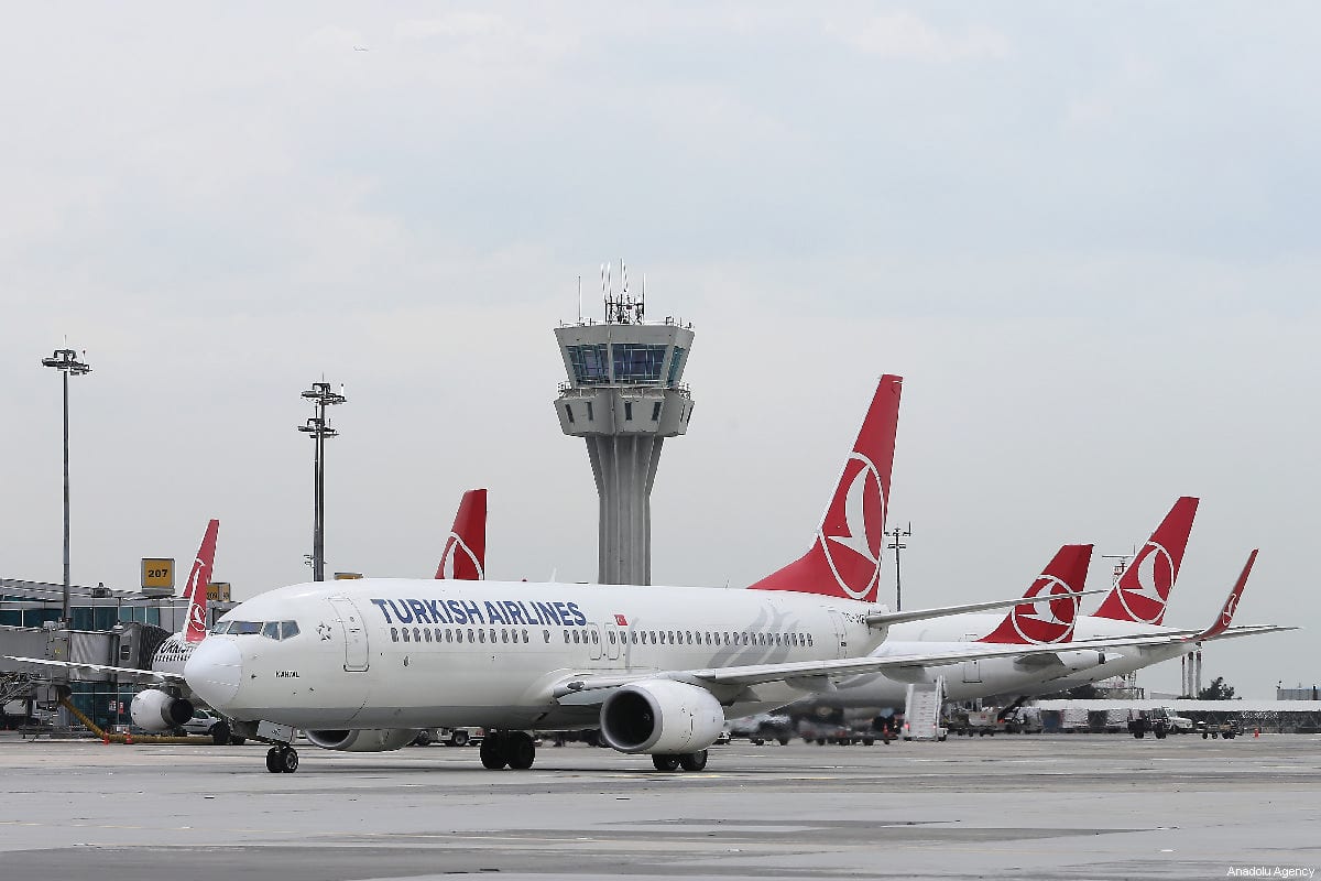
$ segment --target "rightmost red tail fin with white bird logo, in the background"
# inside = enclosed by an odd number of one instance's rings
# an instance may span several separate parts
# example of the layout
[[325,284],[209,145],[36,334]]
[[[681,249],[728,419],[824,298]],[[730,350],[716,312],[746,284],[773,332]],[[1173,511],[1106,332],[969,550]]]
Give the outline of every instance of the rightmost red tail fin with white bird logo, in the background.
[[1115,588],[1106,594],[1092,616],[1111,621],[1132,621],[1159,625],[1165,619],[1169,592],[1178,580],[1178,567],[1184,563],[1188,534],[1193,531],[1197,499],[1189,495],[1174,502],[1152,538],[1137,552],[1133,561],[1119,576]]

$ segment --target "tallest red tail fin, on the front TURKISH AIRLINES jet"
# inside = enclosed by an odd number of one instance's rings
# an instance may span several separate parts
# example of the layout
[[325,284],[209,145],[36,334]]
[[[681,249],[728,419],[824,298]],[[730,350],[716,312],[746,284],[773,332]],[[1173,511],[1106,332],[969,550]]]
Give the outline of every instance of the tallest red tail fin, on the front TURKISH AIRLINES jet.
[[876,602],[902,376],[884,375],[807,553],[750,585]]

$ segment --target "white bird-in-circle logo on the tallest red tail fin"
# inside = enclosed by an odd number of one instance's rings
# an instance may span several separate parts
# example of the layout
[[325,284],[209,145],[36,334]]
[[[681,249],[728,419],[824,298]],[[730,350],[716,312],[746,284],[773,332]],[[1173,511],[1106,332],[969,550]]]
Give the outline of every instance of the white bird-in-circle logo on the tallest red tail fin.
[[835,581],[849,597],[864,600],[881,575],[885,493],[876,465],[856,450],[844,464],[840,487],[845,485],[831,499],[819,538]]

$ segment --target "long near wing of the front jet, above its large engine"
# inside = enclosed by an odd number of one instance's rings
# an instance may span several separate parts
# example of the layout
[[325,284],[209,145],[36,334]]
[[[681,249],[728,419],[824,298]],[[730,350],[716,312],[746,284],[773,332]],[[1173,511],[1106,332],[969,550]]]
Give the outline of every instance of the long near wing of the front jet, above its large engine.
[[[1021,602],[1021,598],[1020,598]],[[831,660],[799,660],[781,664],[744,664],[738,667],[707,667],[700,670],[658,670],[638,671],[626,676],[583,675],[567,676],[552,689],[561,703],[590,704],[604,700],[606,693],[621,686],[642,679],[674,679],[692,686],[713,688],[719,686],[757,686],[769,682],[804,680],[807,691],[814,689],[810,680],[855,676],[859,674],[881,672],[893,667],[935,667],[955,664],[963,660],[984,660],[987,658],[1013,658],[1020,655],[1049,655],[1057,651],[1104,650],[1123,646],[1169,645],[1176,642],[1169,634],[1151,634],[1128,639],[1087,639],[1070,643],[1041,646],[1000,645],[970,642],[967,649],[938,652],[894,652],[864,655],[861,658],[836,658]],[[585,692],[598,692],[589,700],[571,699]],[[565,700],[569,699],[569,700]]]

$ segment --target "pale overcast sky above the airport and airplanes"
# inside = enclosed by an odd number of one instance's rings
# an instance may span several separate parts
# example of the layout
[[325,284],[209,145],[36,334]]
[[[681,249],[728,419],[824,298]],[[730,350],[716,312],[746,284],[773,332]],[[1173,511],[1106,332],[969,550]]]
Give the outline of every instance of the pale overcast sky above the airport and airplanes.
[[[1277,3],[28,4],[0,54],[0,576],[133,588],[221,519],[236,598],[425,577],[490,490],[491,577],[596,577],[551,333],[600,265],[696,332],[653,580],[808,544],[905,376],[905,606],[1018,596],[1066,542],[1110,584],[1202,498],[1166,623],[1207,679],[1317,682],[1321,11]],[[361,48],[365,50],[355,50]],[[893,560],[882,584],[894,579]],[[1085,604],[1086,610],[1086,604]],[[1177,663],[1140,684],[1177,691]]]

